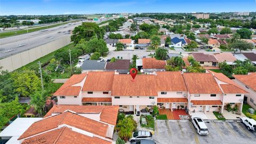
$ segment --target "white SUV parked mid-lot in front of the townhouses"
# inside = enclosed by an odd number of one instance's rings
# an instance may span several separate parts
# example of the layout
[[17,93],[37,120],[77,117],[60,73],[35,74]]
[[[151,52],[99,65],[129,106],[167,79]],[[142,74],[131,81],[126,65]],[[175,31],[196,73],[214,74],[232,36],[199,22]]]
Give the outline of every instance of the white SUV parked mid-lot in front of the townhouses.
[[207,126],[205,125],[204,121],[200,117],[193,117],[191,118],[191,121],[193,125],[196,128],[196,132],[200,135],[207,135],[209,134],[209,131],[207,129]]

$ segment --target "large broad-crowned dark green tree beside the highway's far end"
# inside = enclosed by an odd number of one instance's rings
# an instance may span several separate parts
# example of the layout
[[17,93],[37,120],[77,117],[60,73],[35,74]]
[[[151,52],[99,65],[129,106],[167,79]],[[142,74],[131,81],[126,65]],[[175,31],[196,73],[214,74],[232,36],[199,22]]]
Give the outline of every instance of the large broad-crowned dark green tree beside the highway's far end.
[[73,35],[71,35],[71,42],[77,44],[81,39],[89,41],[93,36],[103,38],[104,32],[97,23],[83,22],[82,25],[74,28]]

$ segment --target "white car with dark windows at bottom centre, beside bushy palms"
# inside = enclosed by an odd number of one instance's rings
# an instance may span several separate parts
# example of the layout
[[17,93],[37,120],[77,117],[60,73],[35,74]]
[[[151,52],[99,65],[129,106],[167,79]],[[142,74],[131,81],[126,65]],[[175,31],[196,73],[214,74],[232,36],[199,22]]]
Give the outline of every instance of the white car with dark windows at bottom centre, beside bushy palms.
[[152,133],[149,131],[137,131],[132,133],[132,138],[130,142],[140,141],[140,140],[153,140]]

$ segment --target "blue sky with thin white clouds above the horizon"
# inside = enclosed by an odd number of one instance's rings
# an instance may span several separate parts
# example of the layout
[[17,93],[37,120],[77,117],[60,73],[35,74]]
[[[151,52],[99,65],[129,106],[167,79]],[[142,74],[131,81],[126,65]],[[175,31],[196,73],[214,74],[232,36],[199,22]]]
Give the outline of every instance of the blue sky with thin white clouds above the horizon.
[[256,0],[0,0],[0,15],[247,11],[256,11]]

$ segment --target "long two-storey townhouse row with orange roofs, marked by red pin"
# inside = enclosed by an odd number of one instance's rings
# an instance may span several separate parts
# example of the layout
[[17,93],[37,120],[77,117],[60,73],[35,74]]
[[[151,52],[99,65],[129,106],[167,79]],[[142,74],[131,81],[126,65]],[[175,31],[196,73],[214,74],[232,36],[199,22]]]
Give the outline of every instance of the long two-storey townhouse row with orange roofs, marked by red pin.
[[223,111],[229,103],[242,110],[244,91],[223,74],[157,71],[131,76],[114,71],[73,75],[53,95],[58,105],[114,105],[127,114],[153,106],[193,111]]

